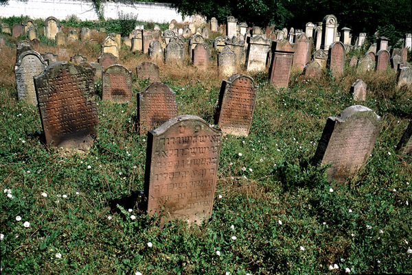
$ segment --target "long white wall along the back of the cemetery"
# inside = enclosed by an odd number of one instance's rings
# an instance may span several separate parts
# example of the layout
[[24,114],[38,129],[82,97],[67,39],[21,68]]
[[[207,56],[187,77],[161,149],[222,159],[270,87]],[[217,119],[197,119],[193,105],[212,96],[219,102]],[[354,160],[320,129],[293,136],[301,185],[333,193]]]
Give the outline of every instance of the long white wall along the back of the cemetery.
[[[105,19],[117,19],[118,12],[137,14],[139,21],[154,21],[169,23],[172,19],[178,22],[190,21],[190,17],[182,18],[176,8],[168,3],[102,1]],[[54,16],[59,20],[66,19],[72,14],[81,20],[98,20],[93,2],[90,0],[7,0],[0,3],[0,16],[27,15],[32,19],[46,19]]]

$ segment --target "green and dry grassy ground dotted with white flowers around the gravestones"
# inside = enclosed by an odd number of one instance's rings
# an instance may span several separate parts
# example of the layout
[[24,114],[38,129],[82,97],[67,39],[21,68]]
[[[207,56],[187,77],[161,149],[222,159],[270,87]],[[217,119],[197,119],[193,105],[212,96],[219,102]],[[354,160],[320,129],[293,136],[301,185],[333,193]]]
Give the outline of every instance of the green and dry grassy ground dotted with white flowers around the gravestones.
[[[79,30],[79,29],[78,29]],[[104,37],[99,42],[101,43]],[[39,52],[59,53],[52,41]],[[41,41],[43,42],[43,40]],[[38,108],[17,100],[16,40],[0,52],[0,232],[2,274],[371,274],[412,272],[411,156],[396,145],[411,118],[411,89],[396,73],[358,74],[346,64],[340,79],[293,72],[289,88],[258,83],[249,136],[223,136],[211,219],[163,228],[144,205],[147,136],[136,132],[137,93],[147,80],[135,68],[148,56],[123,47],[119,64],[133,71],[133,101],[102,101],[95,84],[98,139],[89,154],[62,154],[41,144]],[[65,46],[59,60],[100,44]],[[351,52],[363,56],[363,52]],[[349,60],[349,58],[346,58]],[[348,62],[348,61],[347,61]],[[214,123],[222,77],[157,62],[161,82],[176,92],[178,115]],[[367,84],[367,100],[350,86]],[[312,167],[325,122],[354,104],[382,117],[374,151],[344,184]]]

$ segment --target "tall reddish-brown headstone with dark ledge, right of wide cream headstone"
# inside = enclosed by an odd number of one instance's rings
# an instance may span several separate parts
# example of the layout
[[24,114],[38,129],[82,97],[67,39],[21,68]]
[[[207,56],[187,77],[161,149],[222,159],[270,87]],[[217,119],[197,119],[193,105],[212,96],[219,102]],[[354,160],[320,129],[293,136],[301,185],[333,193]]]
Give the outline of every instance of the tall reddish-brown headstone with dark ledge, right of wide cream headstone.
[[288,40],[272,43],[272,62],[269,79],[276,88],[287,87],[295,49]]

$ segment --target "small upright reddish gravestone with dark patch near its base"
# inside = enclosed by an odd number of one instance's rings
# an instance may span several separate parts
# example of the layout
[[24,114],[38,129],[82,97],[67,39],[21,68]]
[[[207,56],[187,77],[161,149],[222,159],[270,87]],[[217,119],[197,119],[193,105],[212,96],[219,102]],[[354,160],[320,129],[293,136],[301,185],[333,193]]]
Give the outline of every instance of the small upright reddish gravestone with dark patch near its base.
[[132,72],[113,64],[102,72],[102,99],[117,103],[132,101]]

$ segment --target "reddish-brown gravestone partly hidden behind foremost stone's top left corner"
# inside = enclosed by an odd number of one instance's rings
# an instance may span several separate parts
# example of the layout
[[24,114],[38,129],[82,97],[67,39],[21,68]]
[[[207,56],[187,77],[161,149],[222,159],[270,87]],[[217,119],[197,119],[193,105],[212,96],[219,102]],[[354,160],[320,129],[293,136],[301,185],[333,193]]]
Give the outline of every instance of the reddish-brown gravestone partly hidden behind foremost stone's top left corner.
[[166,84],[155,82],[141,91],[137,98],[139,133],[147,134],[177,117],[176,94]]

